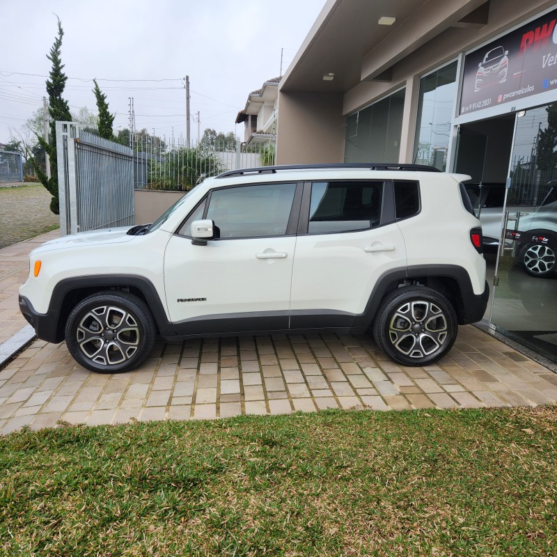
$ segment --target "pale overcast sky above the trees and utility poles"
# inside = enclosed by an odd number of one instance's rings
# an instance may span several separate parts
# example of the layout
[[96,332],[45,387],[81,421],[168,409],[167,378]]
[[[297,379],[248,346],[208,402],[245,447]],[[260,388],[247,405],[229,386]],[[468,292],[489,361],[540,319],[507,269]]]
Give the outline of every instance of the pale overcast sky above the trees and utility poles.
[[[184,77],[189,75],[191,139],[236,131],[250,91],[283,74],[325,0],[0,0],[0,143],[10,140],[46,95],[46,55],[60,17],[70,110],[96,113],[97,78],[114,130],[128,127],[168,138],[186,134]],[[135,81],[135,80],[151,81]],[[173,128],[173,130],[172,130]]]

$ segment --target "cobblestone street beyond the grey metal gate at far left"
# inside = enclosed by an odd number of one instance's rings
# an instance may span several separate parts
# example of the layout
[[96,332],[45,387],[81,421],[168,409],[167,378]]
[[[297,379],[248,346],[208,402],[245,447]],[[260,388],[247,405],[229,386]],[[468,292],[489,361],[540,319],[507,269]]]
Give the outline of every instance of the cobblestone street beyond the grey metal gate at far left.
[[0,248],[59,226],[58,215],[49,209],[51,198],[40,184],[0,183]]

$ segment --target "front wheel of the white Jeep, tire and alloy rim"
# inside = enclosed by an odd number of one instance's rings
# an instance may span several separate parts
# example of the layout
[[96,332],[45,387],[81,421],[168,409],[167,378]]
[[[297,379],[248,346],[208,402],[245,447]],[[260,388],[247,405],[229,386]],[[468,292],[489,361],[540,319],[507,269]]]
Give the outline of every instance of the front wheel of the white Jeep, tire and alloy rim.
[[70,354],[97,373],[135,368],[152,350],[156,336],[148,306],[127,292],[97,292],[85,298],[65,326]]

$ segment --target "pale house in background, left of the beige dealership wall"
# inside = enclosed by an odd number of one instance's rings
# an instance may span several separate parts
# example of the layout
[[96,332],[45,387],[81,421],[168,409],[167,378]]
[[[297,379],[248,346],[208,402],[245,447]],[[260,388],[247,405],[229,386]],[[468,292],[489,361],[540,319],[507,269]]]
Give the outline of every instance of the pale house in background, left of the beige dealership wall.
[[274,144],[280,81],[281,77],[267,79],[262,88],[249,93],[246,107],[238,113],[236,123],[244,123],[244,142],[247,146]]

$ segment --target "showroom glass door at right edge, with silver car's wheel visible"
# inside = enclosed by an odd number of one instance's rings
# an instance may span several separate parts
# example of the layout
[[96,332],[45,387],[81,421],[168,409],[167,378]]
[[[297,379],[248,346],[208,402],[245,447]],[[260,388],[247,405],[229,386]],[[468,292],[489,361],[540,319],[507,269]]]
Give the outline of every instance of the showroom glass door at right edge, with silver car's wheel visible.
[[491,322],[557,361],[557,103],[517,113]]

